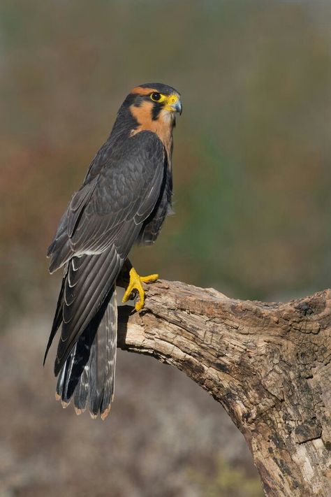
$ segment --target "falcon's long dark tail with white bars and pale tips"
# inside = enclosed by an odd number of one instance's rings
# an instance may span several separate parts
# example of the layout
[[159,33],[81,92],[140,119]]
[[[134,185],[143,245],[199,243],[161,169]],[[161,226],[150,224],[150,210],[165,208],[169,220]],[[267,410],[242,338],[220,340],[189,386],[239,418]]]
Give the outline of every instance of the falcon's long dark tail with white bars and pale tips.
[[117,300],[115,287],[87,326],[59,373],[57,399],[73,398],[77,414],[89,406],[91,417],[107,417],[115,389]]

